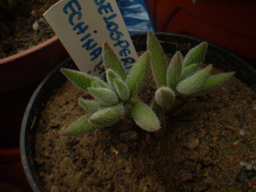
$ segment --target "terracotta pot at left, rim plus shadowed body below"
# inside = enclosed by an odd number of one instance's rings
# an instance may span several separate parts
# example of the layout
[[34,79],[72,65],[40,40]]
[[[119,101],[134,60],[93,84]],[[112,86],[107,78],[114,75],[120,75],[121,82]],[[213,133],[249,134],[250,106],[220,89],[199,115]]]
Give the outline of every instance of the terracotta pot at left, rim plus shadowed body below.
[[57,36],[0,60],[0,148],[19,146],[20,124],[39,82],[68,56]]

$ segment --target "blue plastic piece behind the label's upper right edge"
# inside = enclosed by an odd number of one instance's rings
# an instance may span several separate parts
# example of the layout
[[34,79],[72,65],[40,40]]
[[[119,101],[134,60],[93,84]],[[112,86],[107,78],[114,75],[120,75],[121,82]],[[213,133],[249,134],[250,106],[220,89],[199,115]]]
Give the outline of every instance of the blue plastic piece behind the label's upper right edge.
[[129,33],[154,31],[144,0],[116,0]]

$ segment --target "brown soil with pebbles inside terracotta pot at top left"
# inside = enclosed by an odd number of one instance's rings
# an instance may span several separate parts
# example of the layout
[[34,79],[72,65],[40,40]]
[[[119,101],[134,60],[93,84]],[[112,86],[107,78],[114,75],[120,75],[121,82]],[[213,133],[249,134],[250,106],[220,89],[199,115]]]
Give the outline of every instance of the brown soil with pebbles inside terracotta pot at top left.
[[17,0],[13,10],[0,8],[0,59],[32,48],[55,35],[43,14],[56,2]]

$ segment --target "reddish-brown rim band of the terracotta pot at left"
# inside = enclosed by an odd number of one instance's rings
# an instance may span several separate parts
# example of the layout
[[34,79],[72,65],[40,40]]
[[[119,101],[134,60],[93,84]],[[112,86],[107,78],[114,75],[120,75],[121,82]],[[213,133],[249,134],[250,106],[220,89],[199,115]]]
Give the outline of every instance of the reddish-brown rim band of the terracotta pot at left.
[[0,60],[0,94],[38,82],[68,57],[57,36],[18,54]]

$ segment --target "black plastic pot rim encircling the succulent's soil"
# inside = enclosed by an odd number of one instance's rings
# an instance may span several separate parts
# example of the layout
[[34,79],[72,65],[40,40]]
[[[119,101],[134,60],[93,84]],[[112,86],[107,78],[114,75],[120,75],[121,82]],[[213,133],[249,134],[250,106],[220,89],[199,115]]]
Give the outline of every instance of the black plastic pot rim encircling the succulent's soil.
[[[158,40],[162,43],[164,52],[174,54],[176,50],[180,50],[183,55],[192,47],[198,45],[203,40],[184,36],[180,34],[172,34],[165,32],[155,33]],[[146,50],[146,33],[132,34],[132,41],[137,51]],[[256,87],[256,70],[247,64],[244,60],[215,44],[208,44],[208,52],[206,61],[213,63],[214,67],[222,68],[224,71],[236,71],[236,77],[245,82],[250,87]],[[40,118],[40,113],[44,109],[49,96],[55,88],[58,88],[66,78],[60,73],[60,67],[68,67],[76,69],[71,58],[64,60],[54,70],[52,70],[46,78],[41,82],[34,92],[22,121],[20,133],[20,150],[22,164],[26,172],[26,176],[34,192],[42,192],[43,187],[40,183],[34,159],[34,139],[36,133],[36,124]]]

